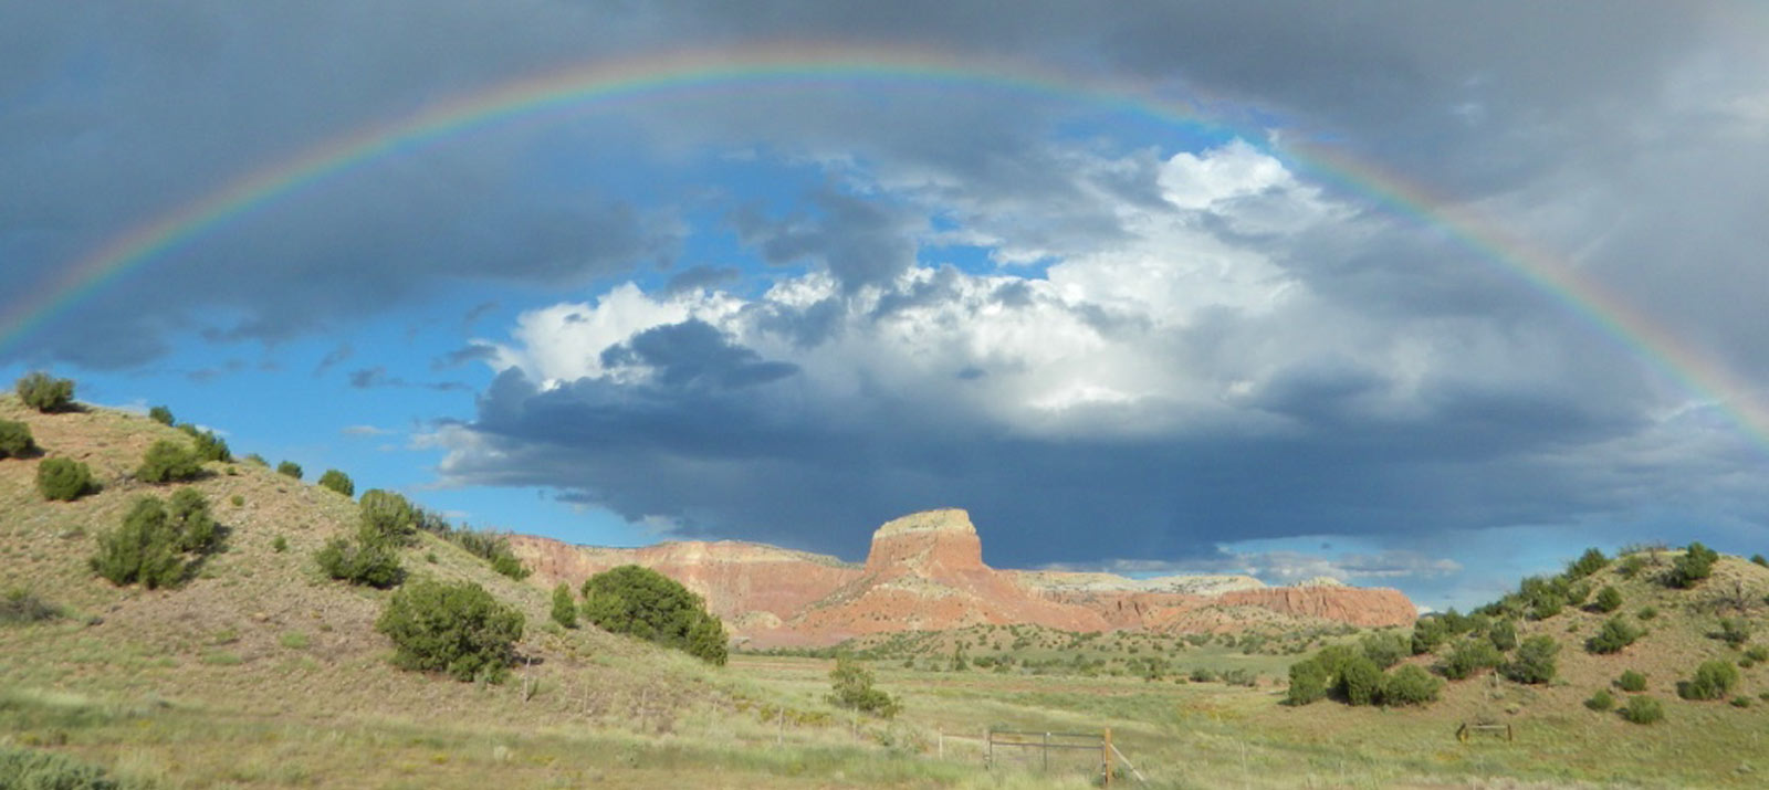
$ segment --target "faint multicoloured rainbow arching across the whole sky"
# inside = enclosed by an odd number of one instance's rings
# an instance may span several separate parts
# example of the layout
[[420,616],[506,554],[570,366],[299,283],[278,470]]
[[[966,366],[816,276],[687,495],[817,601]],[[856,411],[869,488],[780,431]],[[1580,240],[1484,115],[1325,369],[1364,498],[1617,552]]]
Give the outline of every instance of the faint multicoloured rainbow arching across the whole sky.
[[[676,51],[598,62],[472,92],[331,138],[297,156],[248,173],[172,212],[152,217],[65,265],[34,292],[11,299],[0,313],[0,352],[41,323],[110,283],[195,244],[230,221],[338,173],[400,152],[437,145],[467,133],[563,110],[669,97],[695,90],[909,83],[996,88],[1097,106],[1166,124],[1233,131],[1192,104],[1162,99],[1150,85],[1097,81],[1047,67],[955,57],[920,49],[773,44],[743,49]],[[1260,134],[1245,134],[1260,140]],[[1468,209],[1435,200],[1426,189],[1367,163],[1313,143],[1275,150],[1318,179],[1360,194],[1383,210],[1438,228],[1509,276],[1612,338],[1691,394],[1721,410],[1758,447],[1769,449],[1769,412],[1753,389],[1712,355],[1684,343],[1601,283],[1557,254],[1509,235]]]

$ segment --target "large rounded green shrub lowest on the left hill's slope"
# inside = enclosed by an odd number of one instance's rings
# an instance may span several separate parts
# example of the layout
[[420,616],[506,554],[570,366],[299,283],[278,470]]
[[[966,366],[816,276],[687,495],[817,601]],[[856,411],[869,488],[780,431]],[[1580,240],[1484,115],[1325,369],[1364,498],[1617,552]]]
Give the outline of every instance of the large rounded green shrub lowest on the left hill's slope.
[[499,679],[522,638],[524,617],[474,583],[419,580],[393,594],[375,631],[393,640],[393,663],[456,680]]

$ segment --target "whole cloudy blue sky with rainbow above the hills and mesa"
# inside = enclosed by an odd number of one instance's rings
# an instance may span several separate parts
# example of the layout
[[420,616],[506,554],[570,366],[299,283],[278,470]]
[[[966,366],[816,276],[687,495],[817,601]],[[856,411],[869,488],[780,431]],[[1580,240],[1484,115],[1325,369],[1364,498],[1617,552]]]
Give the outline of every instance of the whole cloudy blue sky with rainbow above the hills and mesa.
[[0,376],[474,527],[1769,551],[1769,11],[0,5]]

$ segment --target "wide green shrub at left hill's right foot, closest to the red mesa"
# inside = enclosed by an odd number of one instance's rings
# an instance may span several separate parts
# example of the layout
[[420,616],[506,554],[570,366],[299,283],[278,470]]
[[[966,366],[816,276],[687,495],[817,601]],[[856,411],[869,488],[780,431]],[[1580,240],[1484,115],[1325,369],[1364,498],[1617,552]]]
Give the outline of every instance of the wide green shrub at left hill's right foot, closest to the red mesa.
[[706,611],[701,596],[647,567],[621,566],[587,578],[584,619],[603,631],[725,665],[725,626]]

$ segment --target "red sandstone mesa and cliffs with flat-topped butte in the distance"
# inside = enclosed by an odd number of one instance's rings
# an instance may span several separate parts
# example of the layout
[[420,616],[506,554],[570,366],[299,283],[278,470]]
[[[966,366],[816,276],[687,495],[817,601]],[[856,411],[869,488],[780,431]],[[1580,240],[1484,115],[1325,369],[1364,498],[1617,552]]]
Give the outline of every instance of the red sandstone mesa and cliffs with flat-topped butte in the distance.
[[1398,590],[1311,580],[1265,587],[1251,576],[1130,580],[1104,573],[996,571],[961,509],[913,513],[872,536],[863,566],[755,543],[663,543],[617,550],[511,536],[534,580],[580,585],[637,564],[681,581],[755,647],[833,645],[884,631],[1038,624],[1065,631],[1235,631],[1274,619],[1401,626],[1415,617]]

